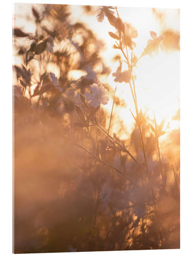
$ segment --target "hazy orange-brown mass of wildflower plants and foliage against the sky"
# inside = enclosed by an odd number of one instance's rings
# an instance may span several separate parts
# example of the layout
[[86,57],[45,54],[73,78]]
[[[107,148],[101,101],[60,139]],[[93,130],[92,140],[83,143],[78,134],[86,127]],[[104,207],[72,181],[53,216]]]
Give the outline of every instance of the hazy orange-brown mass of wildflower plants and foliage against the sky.
[[[107,18],[116,29],[109,36],[124,57],[116,58],[116,90],[126,82],[135,104],[134,129],[120,140],[110,133],[115,92],[109,127],[101,105],[112,93],[100,82],[111,72],[100,55],[103,42],[86,25],[70,23],[68,6],[43,7],[32,7],[35,34],[13,29],[23,57],[22,67],[13,66],[15,252],[179,248],[179,130],[167,133],[172,145],[162,153],[159,138],[168,126],[139,110],[133,72],[140,58],[157,54],[163,36],[151,31],[137,57],[136,29],[116,7],[98,10],[98,22]],[[59,75],[48,71],[50,63]],[[74,70],[82,75],[70,77]]]

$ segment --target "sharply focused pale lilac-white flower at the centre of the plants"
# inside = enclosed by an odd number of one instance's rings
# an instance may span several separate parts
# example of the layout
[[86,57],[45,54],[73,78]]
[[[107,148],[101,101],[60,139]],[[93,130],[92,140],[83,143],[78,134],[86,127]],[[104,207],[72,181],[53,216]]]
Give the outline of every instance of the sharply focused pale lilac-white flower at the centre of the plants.
[[87,101],[90,101],[90,105],[97,108],[99,104],[106,105],[108,104],[109,97],[107,96],[108,90],[106,90],[103,86],[98,86],[98,84],[93,83],[91,86],[92,93],[85,93]]

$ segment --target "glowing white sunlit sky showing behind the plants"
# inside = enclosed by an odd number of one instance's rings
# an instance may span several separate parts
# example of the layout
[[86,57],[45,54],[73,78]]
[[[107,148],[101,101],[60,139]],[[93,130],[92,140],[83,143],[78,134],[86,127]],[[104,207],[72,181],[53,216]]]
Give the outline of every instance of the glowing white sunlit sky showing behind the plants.
[[[22,27],[26,32],[34,32],[34,26],[31,22],[26,22],[25,14],[31,16],[31,6],[27,4],[15,5],[15,26]],[[34,5],[39,8],[38,5]],[[95,7],[95,11],[98,7]],[[118,62],[113,63],[112,58],[116,54],[120,54],[119,50],[112,48],[115,40],[111,38],[108,31],[115,32],[114,28],[109,24],[108,19],[104,18],[102,23],[97,22],[95,15],[85,15],[82,8],[79,6],[71,6],[72,15],[70,19],[73,23],[84,22],[88,27],[94,30],[97,37],[105,42],[105,50],[101,53],[107,66],[112,69],[112,73],[116,71]],[[165,24],[164,29],[174,29],[180,31],[180,16],[177,9],[159,9],[164,14]],[[151,38],[150,30],[155,31],[157,35],[162,32],[162,25],[155,18],[151,8],[128,8],[119,7],[119,16],[124,22],[131,23],[138,31],[138,37],[135,39],[137,47],[135,54],[137,57],[146,47],[147,40]],[[16,61],[16,59],[15,59]],[[125,69],[125,66],[123,67]],[[108,82],[115,89],[116,83],[112,73],[103,82]],[[138,95],[138,104],[144,109],[148,107],[150,116],[153,116],[153,111],[156,114],[157,121],[160,121],[166,116],[167,122],[176,114],[180,104],[180,52],[166,54],[159,52],[154,57],[145,56],[139,60],[137,69],[135,70],[137,79],[135,81],[136,91]],[[116,95],[125,100],[127,106],[125,108],[116,108],[114,114],[123,120],[127,131],[133,124],[133,117],[130,114],[129,108],[134,112],[133,99],[129,86],[125,83],[117,83]],[[108,105],[104,106],[106,110],[111,112],[112,97]],[[174,129],[178,123],[170,122],[170,127]],[[112,127],[113,132],[117,132],[119,126]],[[126,138],[127,134],[122,134],[121,139]]]

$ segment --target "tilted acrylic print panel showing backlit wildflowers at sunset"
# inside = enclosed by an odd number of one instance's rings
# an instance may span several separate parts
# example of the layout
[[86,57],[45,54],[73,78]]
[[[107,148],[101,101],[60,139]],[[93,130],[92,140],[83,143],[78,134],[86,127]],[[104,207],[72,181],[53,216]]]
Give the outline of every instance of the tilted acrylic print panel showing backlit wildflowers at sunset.
[[13,18],[14,253],[180,248],[180,10]]

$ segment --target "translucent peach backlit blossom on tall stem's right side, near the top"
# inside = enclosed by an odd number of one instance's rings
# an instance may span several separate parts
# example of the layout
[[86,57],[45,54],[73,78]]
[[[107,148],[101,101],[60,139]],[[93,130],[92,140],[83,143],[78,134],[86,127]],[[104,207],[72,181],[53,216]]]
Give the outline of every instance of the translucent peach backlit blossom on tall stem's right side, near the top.
[[135,42],[132,38],[136,38],[138,36],[137,30],[131,24],[124,25],[124,32],[122,36],[122,46],[128,46],[130,50],[133,50],[133,47],[136,47]]

